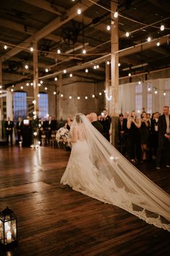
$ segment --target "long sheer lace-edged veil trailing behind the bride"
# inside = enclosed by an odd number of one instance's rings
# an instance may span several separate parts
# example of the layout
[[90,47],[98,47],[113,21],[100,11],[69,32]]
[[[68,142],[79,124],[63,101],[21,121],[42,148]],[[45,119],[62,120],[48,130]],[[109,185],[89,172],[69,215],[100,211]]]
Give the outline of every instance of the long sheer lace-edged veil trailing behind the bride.
[[[93,181],[90,183],[90,188],[80,191],[89,197],[121,207],[158,228],[170,231],[169,194],[123,157],[91,125],[85,115],[77,115],[81,120],[80,129],[82,133],[85,133],[88,143],[88,153],[93,170],[95,169],[95,177],[92,170],[91,177],[88,177],[89,181]],[[75,118],[69,136],[72,137],[76,126]],[[70,157],[74,156],[71,154]],[[94,189],[91,184],[94,185]],[[96,186],[96,184],[99,185]]]

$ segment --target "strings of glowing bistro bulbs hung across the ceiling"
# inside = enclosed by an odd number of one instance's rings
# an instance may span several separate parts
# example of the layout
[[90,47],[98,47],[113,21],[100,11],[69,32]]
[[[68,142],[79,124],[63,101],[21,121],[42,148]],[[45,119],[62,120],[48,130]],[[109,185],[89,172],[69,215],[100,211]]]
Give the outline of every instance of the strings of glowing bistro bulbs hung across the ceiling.
[[[72,1],[75,1],[75,0],[72,0]],[[163,31],[163,30],[170,30],[170,28],[165,28],[165,25],[163,25],[163,21],[168,20],[170,17],[166,17],[166,18],[163,19],[163,20],[158,20],[157,22],[153,22],[153,23],[151,23],[151,24],[145,24],[144,22],[139,22],[139,21],[137,21],[137,20],[135,20],[135,19],[132,19],[132,18],[126,17],[125,15],[122,15],[121,13],[118,12],[118,8],[116,9],[116,12],[112,12],[111,9],[108,9],[108,8],[104,7],[103,5],[101,5],[101,4],[95,3],[93,0],[88,0],[88,1],[92,2],[93,4],[97,5],[98,7],[101,7],[102,9],[106,9],[108,12],[111,12],[111,13],[114,15],[114,18],[115,18],[115,19],[118,18],[118,17],[122,17],[122,18],[124,18],[124,19],[126,19],[126,20],[129,20],[129,21],[131,21],[131,22],[135,22],[135,23],[138,23],[138,24],[140,24],[140,25],[144,25],[144,27],[138,28],[138,29],[133,30],[133,31],[131,31],[131,32],[127,31],[127,32],[124,34],[124,36],[126,36],[127,38],[128,38],[132,33],[136,33],[137,31],[143,30],[144,28],[147,28],[147,27],[157,28],[157,29],[159,29],[159,30],[161,30],[161,31]],[[81,4],[82,4],[82,3],[80,2],[80,5],[81,5]],[[77,15],[81,15],[81,13],[82,13],[82,11],[81,11],[81,6],[80,6],[80,7],[77,9]],[[157,23],[161,23],[160,27],[156,26]],[[107,30],[110,30],[110,29],[111,29],[111,25],[106,25],[106,29],[107,29]],[[152,41],[152,38],[151,38],[150,36],[148,36],[147,41],[148,41],[148,42]],[[85,49],[82,49],[82,53],[80,53],[80,54],[65,54],[65,53],[61,52],[61,49],[57,49],[57,51],[42,51],[42,50],[34,49],[34,48],[33,48],[33,45],[30,45],[30,48],[27,48],[27,47],[20,46],[20,45],[16,45],[16,44],[10,44],[10,43],[4,42],[4,41],[0,41],[0,44],[3,44],[3,45],[4,45],[4,49],[5,49],[5,50],[7,50],[9,47],[17,47],[17,48],[20,48],[20,49],[25,49],[25,50],[27,50],[27,51],[30,50],[30,52],[38,51],[38,52],[44,53],[44,54],[55,54],[55,55],[61,54],[61,55],[64,55],[64,56],[71,56],[71,57],[72,57],[72,56],[81,56],[81,55],[87,55],[87,56],[99,56],[99,55],[100,55],[100,56],[102,56],[102,55],[108,54],[108,53],[90,54],[90,53],[87,53],[87,51],[86,51]],[[156,46],[160,46],[160,45],[161,45],[160,42],[157,41]],[[110,64],[111,64],[111,62],[108,60],[108,61],[107,61],[107,65],[110,65]],[[118,66],[120,67],[120,66],[121,66],[121,63],[118,63]],[[28,68],[29,68],[29,66],[26,64],[26,65],[25,65],[25,69],[28,69]],[[98,69],[98,68],[99,68],[99,65],[93,65],[93,69],[94,69],[94,70],[96,70],[96,69]],[[48,73],[49,70],[50,70],[50,68],[49,68],[49,67],[46,67],[46,69],[45,69],[46,73]],[[85,73],[88,73],[88,68],[85,69]],[[63,70],[63,74],[67,74],[67,70]],[[128,76],[131,77],[132,74],[129,73]],[[69,74],[69,77],[72,78],[72,77],[73,77],[73,74],[70,73],[70,74]],[[58,78],[55,77],[54,80],[57,81]],[[141,81],[139,81],[139,83],[141,83]],[[41,86],[42,84],[43,84],[43,80],[41,80],[40,83],[38,83],[38,86]],[[26,86],[33,86],[33,83],[26,83]],[[14,87],[14,85],[13,85],[12,87]],[[20,86],[20,88],[23,89],[24,87],[23,87],[23,86]],[[2,86],[0,85],[0,94],[1,94],[1,89],[2,89]],[[48,88],[45,87],[44,89],[45,89],[45,91],[47,91]],[[150,87],[148,87],[148,91],[150,91],[150,90],[151,90]],[[11,91],[14,91],[14,88],[11,88]],[[162,91],[162,90],[157,89],[157,88],[154,88],[154,93],[155,93],[155,94],[158,94],[158,91]],[[110,101],[110,100],[111,100],[111,95],[109,96],[109,95],[107,94],[106,90],[104,91],[104,94],[106,95],[106,99],[107,99],[108,101]],[[56,91],[54,91],[54,95],[56,95]],[[59,94],[59,95],[61,96],[61,98],[64,97],[63,94]],[[101,95],[102,95],[102,93],[100,92],[100,93],[99,93],[99,96],[101,96]],[[166,91],[163,91],[163,96],[166,96]],[[95,94],[92,94],[92,97],[95,98],[95,97],[96,97]],[[74,98],[73,96],[71,96],[71,95],[69,96],[69,99],[73,99],[73,98]],[[82,97],[81,97],[81,98],[82,98]],[[80,96],[77,96],[77,99],[80,100]],[[89,99],[89,96],[85,96],[84,99]]]

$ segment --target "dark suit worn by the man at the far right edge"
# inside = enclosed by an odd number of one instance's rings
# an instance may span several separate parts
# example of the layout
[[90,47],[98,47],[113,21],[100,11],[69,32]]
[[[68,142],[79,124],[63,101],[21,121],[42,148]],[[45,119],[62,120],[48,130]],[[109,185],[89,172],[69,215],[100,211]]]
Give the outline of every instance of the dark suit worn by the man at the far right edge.
[[[169,115],[170,123],[170,115]],[[170,165],[170,139],[166,139],[166,117],[161,115],[158,118],[158,150],[156,155],[156,166],[160,167],[161,159],[164,156],[164,162],[166,165]],[[164,151],[164,154],[163,154]]]

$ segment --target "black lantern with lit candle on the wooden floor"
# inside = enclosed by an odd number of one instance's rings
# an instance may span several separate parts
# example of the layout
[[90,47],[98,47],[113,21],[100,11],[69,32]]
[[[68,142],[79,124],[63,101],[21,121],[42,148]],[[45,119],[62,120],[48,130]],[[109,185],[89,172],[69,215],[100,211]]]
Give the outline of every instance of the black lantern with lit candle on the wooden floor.
[[7,207],[0,212],[0,245],[10,246],[17,244],[17,218]]

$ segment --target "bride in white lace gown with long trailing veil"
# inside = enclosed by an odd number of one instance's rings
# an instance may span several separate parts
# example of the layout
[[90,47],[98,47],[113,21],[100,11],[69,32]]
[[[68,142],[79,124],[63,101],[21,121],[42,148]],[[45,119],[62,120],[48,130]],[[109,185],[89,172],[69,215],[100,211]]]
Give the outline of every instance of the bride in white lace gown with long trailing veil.
[[170,231],[169,194],[127,161],[85,115],[75,115],[67,141],[72,152],[62,184]]

